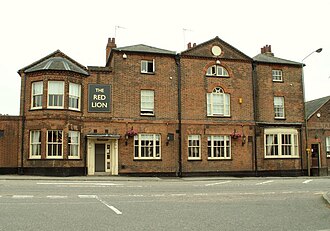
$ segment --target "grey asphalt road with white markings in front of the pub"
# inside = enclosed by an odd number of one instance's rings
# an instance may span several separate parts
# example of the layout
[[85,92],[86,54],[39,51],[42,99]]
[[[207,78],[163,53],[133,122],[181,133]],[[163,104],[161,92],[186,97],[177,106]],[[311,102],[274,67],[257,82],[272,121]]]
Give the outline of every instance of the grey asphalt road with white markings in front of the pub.
[[106,179],[0,179],[0,230],[330,230],[329,178]]

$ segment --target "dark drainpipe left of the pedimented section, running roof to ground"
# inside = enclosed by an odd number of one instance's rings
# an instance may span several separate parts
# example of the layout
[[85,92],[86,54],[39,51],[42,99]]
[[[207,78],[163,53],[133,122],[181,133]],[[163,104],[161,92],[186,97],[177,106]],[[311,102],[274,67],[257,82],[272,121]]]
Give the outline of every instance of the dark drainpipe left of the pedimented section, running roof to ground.
[[175,63],[178,71],[178,136],[179,136],[179,153],[178,153],[178,177],[182,177],[182,115],[181,115],[181,63],[180,54],[175,56]]

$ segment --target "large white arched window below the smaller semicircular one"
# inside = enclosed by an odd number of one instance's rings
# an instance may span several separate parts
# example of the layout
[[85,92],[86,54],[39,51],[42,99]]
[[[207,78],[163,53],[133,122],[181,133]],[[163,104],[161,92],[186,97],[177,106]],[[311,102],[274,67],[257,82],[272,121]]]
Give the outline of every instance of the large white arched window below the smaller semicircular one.
[[230,116],[230,95],[220,87],[207,94],[208,116]]

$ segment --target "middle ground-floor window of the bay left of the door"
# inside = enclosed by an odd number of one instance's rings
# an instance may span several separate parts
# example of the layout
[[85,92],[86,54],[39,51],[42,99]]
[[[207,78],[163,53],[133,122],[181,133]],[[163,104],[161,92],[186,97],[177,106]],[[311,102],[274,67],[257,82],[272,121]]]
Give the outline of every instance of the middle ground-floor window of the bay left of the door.
[[62,158],[63,155],[63,131],[47,131],[47,157]]

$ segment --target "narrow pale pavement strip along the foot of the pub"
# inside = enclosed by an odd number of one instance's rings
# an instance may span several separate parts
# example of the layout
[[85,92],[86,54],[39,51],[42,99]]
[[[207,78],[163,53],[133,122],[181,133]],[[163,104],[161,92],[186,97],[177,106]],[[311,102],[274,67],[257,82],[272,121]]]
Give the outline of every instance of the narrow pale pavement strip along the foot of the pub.
[[[245,177],[246,180],[261,179],[262,177]],[[263,177],[263,178],[297,178],[297,177]],[[302,179],[311,179],[315,177],[299,177]],[[329,176],[320,177],[329,178]],[[32,176],[32,175],[0,175],[0,180],[57,180],[57,181],[214,181],[214,180],[241,180],[242,177],[136,177],[136,176]],[[323,199],[330,205],[330,191],[323,194]]]

